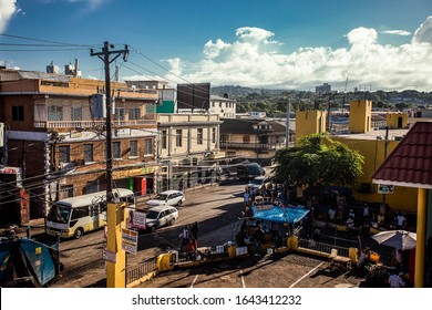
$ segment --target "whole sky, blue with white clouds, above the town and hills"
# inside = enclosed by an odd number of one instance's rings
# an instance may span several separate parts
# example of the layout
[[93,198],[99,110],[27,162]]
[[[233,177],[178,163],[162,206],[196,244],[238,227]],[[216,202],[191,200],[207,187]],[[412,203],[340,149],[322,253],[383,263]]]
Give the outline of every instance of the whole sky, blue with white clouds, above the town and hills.
[[338,91],[347,78],[348,91],[432,85],[431,0],[0,0],[0,33],[8,68],[44,71],[53,61],[63,69],[76,58],[84,78],[104,79],[90,48],[109,41],[130,45],[128,61],[117,62],[127,80],[291,90],[330,83]]

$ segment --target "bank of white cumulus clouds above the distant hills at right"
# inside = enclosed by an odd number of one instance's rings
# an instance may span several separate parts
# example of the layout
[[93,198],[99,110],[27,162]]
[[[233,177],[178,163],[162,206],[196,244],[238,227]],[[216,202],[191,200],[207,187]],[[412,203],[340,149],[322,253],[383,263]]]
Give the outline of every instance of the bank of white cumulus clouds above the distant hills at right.
[[[186,63],[175,59],[169,64],[191,82],[213,85],[310,90],[327,82],[343,90],[349,75],[352,87],[430,91],[432,17],[415,31],[411,43],[383,45],[379,43],[379,34],[374,29],[360,27],[347,33],[347,48],[299,48],[287,54],[278,51],[281,43],[271,40],[272,32],[245,27],[236,30],[237,40],[233,42],[217,39],[205,43],[200,61]],[[408,32],[387,31],[387,34],[408,35]]]

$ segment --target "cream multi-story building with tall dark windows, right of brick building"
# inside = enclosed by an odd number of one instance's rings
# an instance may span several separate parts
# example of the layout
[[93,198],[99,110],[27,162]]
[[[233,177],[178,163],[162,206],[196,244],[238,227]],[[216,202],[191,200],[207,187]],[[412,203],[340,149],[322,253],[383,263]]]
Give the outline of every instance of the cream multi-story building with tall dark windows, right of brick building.
[[160,190],[177,189],[215,178],[219,152],[217,114],[157,114]]

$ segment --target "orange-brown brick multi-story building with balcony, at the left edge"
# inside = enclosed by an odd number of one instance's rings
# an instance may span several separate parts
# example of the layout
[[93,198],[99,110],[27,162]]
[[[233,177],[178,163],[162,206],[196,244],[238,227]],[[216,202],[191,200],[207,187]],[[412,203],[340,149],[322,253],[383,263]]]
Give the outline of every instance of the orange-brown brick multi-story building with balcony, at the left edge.
[[[6,69],[0,78],[3,164],[21,174],[7,185],[30,194],[32,217],[45,216],[53,200],[106,189],[105,82]],[[113,182],[142,195],[156,174],[157,91],[121,82],[111,90]],[[2,206],[13,200],[4,188]]]

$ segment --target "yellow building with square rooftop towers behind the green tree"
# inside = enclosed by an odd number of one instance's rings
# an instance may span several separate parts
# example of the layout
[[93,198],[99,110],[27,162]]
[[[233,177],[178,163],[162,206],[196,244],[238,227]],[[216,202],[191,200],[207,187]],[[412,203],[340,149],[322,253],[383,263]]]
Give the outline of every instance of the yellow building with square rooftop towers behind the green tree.
[[[409,187],[394,187],[393,194],[379,194],[378,185],[371,176],[408,133],[405,113],[389,113],[385,117],[390,130],[371,130],[372,102],[352,101],[350,103],[349,134],[332,135],[364,156],[363,174],[359,176],[353,190],[354,198],[368,203],[385,203],[392,210],[415,213],[416,190]],[[325,132],[326,112],[298,111],[296,113],[296,143],[305,135]],[[387,136],[387,138],[385,138]]]

